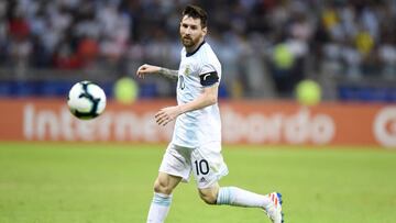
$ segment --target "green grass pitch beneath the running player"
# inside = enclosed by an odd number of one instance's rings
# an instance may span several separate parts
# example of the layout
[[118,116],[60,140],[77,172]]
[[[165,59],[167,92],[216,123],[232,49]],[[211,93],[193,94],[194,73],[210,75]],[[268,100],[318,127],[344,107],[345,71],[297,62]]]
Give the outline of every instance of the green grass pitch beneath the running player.
[[[0,143],[1,223],[145,222],[164,145]],[[224,146],[222,186],[284,196],[285,222],[396,221],[396,153]],[[168,223],[270,222],[258,209],[209,207],[195,182],[174,193]]]

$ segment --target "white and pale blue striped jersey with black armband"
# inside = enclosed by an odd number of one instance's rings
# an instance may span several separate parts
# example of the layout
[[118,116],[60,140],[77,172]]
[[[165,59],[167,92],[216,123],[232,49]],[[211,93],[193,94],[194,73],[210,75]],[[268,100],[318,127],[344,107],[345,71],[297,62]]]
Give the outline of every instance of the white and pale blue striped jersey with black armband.
[[[182,49],[178,69],[177,103],[188,103],[198,98],[204,88],[221,79],[221,65],[212,48],[205,41],[187,53]],[[176,119],[172,143],[196,148],[210,142],[221,142],[221,120],[218,104],[180,114]]]

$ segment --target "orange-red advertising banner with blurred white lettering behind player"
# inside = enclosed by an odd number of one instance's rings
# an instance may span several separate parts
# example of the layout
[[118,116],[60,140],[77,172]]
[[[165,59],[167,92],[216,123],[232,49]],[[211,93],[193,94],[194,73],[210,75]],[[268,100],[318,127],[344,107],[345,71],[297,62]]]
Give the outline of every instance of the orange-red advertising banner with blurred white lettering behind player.
[[[173,124],[154,113],[173,100],[110,102],[96,120],[74,118],[64,100],[0,99],[0,141],[166,142]],[[396,104],[221,101],[226,144],[362,145],[396,148]]]

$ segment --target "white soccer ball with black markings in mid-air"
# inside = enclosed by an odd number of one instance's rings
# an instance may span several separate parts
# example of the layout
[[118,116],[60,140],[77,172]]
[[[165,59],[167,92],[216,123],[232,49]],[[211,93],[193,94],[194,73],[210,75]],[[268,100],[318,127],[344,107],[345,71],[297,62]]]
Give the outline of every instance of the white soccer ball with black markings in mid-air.
[[84,80],[72,87],[67,97],[67,105],[76,118],[91,120],[105,111],[106,94],[98,85]]

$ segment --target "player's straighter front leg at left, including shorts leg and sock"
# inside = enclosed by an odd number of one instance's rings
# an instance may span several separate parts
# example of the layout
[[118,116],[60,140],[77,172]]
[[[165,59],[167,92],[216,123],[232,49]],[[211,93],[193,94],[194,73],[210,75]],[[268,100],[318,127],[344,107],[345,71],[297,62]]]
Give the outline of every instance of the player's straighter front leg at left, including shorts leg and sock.
[[165,221],[172,204],[172,192],[182,180],[187,180],[191,170],[190,149],[169,144],[154,182],[154,198],[150,205],[147,222]]

